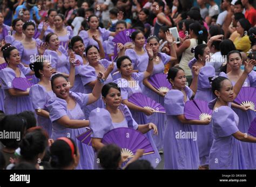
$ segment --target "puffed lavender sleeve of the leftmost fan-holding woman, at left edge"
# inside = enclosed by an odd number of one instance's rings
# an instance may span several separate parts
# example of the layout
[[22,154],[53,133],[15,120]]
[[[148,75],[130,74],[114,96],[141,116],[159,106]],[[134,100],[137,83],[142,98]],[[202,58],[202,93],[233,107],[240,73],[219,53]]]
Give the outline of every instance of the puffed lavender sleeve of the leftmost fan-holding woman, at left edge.
[[0,71],[0,78],[1,78],[1,86],[2,89],[10,89],[14,88],[12,86],[12,80],[16,77],[16,74],[11,71],[10,68],[4,68]]

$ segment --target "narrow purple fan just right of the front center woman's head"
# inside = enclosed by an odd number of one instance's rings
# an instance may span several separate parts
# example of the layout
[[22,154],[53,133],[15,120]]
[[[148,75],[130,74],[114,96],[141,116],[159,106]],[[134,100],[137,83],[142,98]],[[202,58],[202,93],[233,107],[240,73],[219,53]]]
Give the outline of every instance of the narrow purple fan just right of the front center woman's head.
[[165,113],[165,108],[160,103],[142,93],[132,94],[128,101],[139,107],[152,109],[154,112]]

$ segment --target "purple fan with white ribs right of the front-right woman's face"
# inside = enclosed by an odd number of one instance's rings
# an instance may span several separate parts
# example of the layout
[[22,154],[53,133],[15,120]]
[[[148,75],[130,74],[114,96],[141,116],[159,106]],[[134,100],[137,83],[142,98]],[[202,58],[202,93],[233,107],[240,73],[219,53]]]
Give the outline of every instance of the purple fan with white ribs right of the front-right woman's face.
[[251,110],[256,111],[256,88],[242,87],[234,102],[238,103],[239,105],[249,105]]

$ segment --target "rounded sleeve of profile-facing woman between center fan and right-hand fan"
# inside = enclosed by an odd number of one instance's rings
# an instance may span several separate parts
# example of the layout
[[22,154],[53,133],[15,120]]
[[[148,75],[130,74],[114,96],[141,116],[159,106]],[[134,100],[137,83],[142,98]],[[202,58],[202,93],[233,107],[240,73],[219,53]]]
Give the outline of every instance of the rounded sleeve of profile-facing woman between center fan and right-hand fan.
[[172,89],[165,95],[164,108],[167,115],[184,114],[184,94],[177,89]]

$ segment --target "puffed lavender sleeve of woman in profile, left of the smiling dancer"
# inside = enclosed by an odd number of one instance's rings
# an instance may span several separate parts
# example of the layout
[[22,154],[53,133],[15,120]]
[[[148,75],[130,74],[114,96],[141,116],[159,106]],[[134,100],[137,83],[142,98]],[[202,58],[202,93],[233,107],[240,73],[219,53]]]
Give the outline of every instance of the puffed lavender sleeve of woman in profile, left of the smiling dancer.
[[46,96],[44,89],[38,84],[33,85],[29,90],[29,96],[32,101],[33,109],[44,109]]

